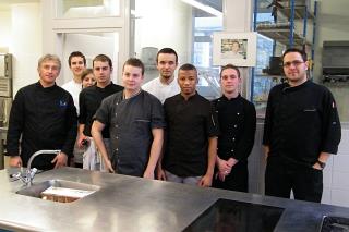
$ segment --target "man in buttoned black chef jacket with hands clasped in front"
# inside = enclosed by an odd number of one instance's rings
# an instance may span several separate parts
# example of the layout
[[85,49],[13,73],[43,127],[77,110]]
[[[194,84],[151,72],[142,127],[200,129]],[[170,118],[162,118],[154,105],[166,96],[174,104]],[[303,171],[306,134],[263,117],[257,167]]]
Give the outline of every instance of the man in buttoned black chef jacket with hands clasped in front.
[[254,105],[241,97],[240,71],[227,64],[220,71],[222,96],[213,101],[218,114],[217,173],[214,187],[248,192],[248,157],[253,148],[256,127]]

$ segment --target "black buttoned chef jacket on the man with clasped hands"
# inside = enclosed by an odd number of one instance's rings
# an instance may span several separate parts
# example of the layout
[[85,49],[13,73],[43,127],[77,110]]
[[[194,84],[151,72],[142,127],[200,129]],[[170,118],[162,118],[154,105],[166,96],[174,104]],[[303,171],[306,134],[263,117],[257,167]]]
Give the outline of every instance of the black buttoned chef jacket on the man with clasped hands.
[[253,145],[256,127],[254,105],[240,95],[228,99],[222,96],[213,101],[218,114],[220,135],[218,156],[224,160],[234,158],[246,161]]

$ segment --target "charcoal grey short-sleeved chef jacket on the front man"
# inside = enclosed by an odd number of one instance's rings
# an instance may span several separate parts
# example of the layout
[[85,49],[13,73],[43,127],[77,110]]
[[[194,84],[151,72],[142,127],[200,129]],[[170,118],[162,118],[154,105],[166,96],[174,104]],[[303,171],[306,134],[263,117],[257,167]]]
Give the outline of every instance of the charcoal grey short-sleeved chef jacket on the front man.
[[124,99],[117,93],[103,100],[95,119],[109,125],[111,162],[120,174],[143,176],[153,143],[153,129],[165,127],[161,102],[147,91]]

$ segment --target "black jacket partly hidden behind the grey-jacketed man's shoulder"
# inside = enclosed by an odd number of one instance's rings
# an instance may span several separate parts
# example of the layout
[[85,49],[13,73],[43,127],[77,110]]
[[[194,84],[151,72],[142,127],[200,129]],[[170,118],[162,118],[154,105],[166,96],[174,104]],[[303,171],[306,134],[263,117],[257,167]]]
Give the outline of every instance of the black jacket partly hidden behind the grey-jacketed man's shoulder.
[[[105,88],[99,88],[97,85],[89,86],[84,88],[79,95],[79,106],[80,106],[80,114],[79,114],[79,123],[85,124],[84,135],[91,135],[91,127],[93,124],[93,117],[95,115],[97,109],[100,106],[100,102],[106,97],[121,91],[123,89],[122,86],[116,85],[112,82],[107,85]],[[106,126],[101,135],[104,138],[109,138],[109,129]]]

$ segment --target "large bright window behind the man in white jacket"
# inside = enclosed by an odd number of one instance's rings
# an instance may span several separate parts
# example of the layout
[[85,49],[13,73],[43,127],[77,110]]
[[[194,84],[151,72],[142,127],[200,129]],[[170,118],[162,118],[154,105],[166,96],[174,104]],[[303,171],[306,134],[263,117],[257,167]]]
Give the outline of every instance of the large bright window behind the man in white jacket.
[[221,9],[222,0],[134,0],[131,51],[145,63],[144,82],[158,76],[156,53],[170,47],[178,53],[179,65],[193,63],[197,68],[198,93],[206,98],[218,97],[219,68],[212,64],[212,35],[222,30]]

